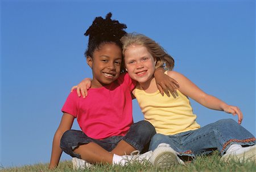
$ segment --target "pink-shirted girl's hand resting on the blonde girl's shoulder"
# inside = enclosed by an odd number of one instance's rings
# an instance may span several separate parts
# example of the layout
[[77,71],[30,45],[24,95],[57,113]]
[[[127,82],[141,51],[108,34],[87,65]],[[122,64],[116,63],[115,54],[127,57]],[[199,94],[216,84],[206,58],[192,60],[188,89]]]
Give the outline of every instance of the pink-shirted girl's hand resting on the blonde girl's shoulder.
[[174,96],[174,92],[176,91],[177,88],[179,88],[179,83],[175,79],[164,74],[163,67],[156,68],[154,72],[154,77],[156,81],[156,86],[158,87],[162,95],[164,92],[167,94],[167,96],[170,96],[170,92]]

